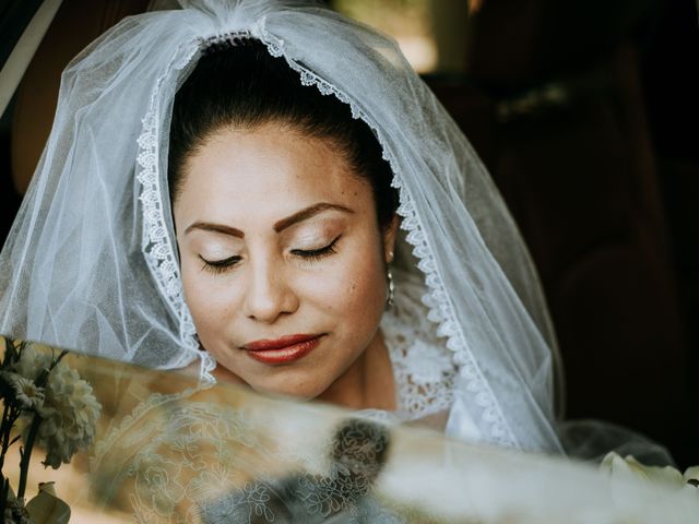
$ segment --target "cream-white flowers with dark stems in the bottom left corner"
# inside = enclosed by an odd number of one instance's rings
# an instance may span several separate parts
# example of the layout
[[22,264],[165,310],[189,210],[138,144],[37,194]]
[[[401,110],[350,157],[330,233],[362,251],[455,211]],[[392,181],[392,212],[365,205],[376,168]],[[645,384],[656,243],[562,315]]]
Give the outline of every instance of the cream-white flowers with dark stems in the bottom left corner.
[[[2,338],[0,338],[2,341]],[[70,508],[56,496],[52,483],[39,485],[25,503],[29,462],[35,448],[46,452],[43,464],[57,469],[70,463],[94,439],[102,407],[93,389],[62,362],[67,352],[4,340],[0,365],[0,515],[5,523],[64,523]],[[5,474],[5,458],[20,445],[16,491]]]

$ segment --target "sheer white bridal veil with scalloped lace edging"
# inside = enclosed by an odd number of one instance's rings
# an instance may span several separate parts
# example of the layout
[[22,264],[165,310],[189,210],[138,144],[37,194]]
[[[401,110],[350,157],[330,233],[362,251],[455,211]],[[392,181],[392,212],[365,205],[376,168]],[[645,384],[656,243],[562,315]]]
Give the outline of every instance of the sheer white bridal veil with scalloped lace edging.
[[161,369],[200,358],[211,378],[179,279],[169,116],[202,49],[246,34],[375,131],[400,189],[396,293],[419,276],[419,307],[458,370],[448,432],[560,451],[556,342],[533,264],[476,154],[395,43],[308,2],[181,3],[126,19],[64,71],[0,254],[0,333]]

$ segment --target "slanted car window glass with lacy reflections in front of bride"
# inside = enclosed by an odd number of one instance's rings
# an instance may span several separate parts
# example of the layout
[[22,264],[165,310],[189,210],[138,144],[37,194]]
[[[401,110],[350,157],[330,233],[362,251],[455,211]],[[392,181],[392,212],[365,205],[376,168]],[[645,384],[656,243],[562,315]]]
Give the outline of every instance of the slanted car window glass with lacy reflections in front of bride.
[[[32,349],[49,361],[60,353]],[[237,384],[202,389],[182,372],[76,354],[62,365],[100,406],[94,445],[57,471],[34,448],[29,484],[55,481],[71,522],[694,524],[699,514],[699,490],[679,473],[643,480]],[[4,472],[16,486],[19,468]]]

